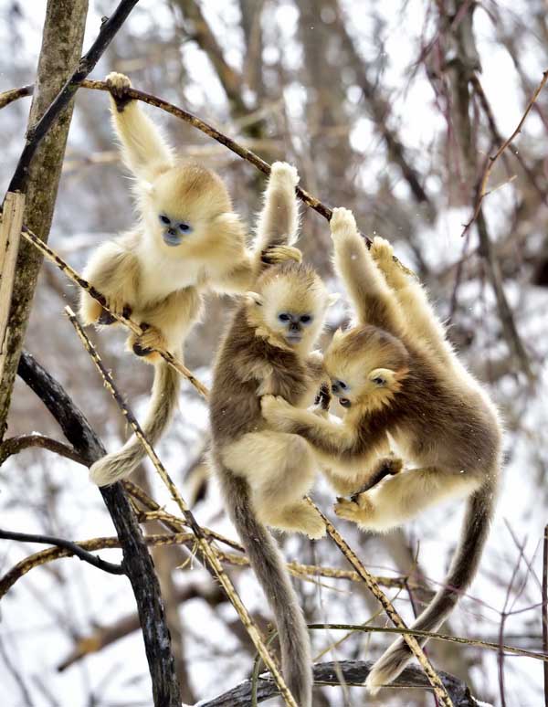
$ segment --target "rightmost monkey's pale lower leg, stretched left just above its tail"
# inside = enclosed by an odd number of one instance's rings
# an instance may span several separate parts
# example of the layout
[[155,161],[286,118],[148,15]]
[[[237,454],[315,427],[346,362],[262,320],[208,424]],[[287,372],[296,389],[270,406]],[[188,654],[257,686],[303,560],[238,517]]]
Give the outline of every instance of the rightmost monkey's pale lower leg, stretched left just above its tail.
[[468,496],[480,482],[477,475],[437,467],[406,470],[358,494],[355,501],[339,501],[335,513],[364,529],[387,531],[439,501]]

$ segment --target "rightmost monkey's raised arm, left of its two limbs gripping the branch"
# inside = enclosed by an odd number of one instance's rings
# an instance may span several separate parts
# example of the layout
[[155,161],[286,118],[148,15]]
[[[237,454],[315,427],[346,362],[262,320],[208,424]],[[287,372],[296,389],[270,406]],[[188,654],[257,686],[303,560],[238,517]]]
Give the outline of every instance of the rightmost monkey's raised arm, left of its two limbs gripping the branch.
[[400,335],[404,322],[397,301],[360,237],[352,211],[333,209],[330,226],[335,269],[353,301],[358,322]]

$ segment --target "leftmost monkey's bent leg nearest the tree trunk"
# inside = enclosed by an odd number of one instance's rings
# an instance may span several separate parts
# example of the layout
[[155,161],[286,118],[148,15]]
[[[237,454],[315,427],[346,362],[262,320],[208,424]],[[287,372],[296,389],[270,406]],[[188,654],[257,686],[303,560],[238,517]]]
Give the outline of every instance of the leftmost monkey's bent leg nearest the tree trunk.
[[[131,243],[131,237],[126,240]],[[140,277],[139,261],[131,248],[120,240],[103,243],[91,256],[83,276],[104,294],[111,311],[130,316],[137,300]],[[80,290],[79,312],[84,324],[115,321],[86,290]]]

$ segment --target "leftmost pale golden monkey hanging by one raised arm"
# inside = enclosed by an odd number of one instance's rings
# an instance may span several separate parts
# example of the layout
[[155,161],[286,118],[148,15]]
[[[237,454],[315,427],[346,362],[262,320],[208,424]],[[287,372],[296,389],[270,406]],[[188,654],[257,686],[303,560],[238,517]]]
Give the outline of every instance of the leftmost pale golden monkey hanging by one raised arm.
[[[255,280],[260,254],[246,248],[246,230],[234,212],[221,178],[199,164],[179,163],[139,101],[124,92],[130,79],[111,73],[112,122],[124,164],[134,176],[139,221],[132,231],[104,243],[84,271],[117,313],[141,323],[128,349],[154,365],[151,403],[143,431],[152,444],[174,414],[179,374],[152,350],[164,348],[182,359],[184,338],[198,321],[202,291],[245,292]],[[293,252],[292,252],[293,251]],[[296,258],[291,248],[273,248],[268,262]],[[111,324],[113,317],[82,290],[80,314],[86,324]],[[144,457],[134,436],[90,469],[99,486],[132,472]]]

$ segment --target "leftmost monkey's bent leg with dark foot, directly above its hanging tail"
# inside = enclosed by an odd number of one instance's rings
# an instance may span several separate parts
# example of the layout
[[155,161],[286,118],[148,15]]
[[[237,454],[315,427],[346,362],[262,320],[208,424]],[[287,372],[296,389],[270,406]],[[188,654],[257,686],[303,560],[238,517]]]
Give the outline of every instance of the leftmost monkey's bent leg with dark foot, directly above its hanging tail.
[[130,333],[126,343],[129,351],[142,356],[149,364],[156,364],[160,354],[153,349],[181,349],[184,338],[200,316],[202,298],[194,287],[177,290],[163,301],[139,312],[141,336]]

